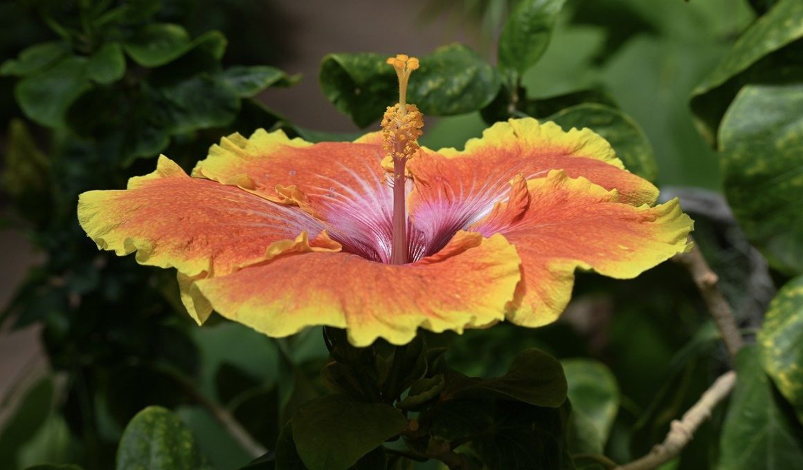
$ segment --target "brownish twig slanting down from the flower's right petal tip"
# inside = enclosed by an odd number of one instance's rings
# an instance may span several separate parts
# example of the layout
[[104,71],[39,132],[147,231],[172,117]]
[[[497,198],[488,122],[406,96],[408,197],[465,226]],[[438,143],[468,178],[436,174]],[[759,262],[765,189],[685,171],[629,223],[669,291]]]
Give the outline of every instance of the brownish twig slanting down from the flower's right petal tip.
[[714,317],[719,333],[722,334],[722,341],[731,355],[731,359],[736,358],[736,353],[742,348],[744,342],[736,326],[736,319],[730,304],[725,300],[722,291],[719,290],[719,278],[711,270],[703,257],[703,253],[695,245],[689,253],[681,253],[675,256],[675,261],[686,266],[691,278],[694,279],[697,289],[703,296],[703,300],[708,306],[708,311]]

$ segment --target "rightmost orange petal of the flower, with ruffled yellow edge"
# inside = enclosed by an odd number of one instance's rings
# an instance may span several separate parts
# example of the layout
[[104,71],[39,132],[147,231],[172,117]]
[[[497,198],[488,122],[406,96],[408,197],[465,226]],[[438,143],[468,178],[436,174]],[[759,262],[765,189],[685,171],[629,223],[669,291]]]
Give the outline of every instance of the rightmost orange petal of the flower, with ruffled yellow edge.
[[[507,318],[523,326],[553,322],[572,294],[574,270],[634,278],[687,249],[691,219],[677,200],[650,208],[619,201],[618,192],[563,171],[528,180],[529,205],[500,229],[499,213],[471,229],[502,233],[521,257],[522,281]],[[520,213],[516,205],[509,208]]]

